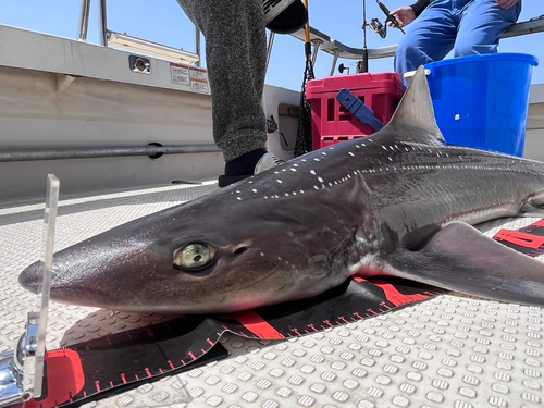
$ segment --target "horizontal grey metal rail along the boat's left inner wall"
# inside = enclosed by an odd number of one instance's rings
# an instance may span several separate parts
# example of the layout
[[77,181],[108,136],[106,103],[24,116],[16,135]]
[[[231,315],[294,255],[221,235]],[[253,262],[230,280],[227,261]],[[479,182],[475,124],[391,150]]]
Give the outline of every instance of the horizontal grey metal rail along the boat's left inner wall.
[[220,151],[222,150],[215,145],[2,149],[2,151],[0,151],[0,163],[37,160],[115,158],[126,156],[150,156],[152,158],[159,158],[161,154],[215,153]]

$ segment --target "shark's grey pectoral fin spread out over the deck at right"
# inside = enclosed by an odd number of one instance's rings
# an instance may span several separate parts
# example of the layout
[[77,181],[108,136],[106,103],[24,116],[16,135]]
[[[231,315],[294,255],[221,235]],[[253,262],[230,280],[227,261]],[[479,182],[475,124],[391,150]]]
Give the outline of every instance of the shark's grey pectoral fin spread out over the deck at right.
[[544,263],[453,222],[418,251],[398,250],[392,274],[500,301],[544,306]]

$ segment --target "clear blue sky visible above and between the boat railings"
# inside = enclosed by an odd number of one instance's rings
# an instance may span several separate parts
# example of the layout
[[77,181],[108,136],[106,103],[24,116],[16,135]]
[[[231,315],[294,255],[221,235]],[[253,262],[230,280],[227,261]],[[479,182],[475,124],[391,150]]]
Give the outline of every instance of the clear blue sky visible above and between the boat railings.
[[[383,0],[391,11],[415,0]],[[92,0],[89,41],[98,42],[98,3]],[[309,0],[311,25],[348,46],[362,47],[362,0]],[[81,0],[0,0],[0,24],[75,38]],[[524,0],[519,21],[544,14],[543,0]],[[367,20],[384,15],[374,0],[367,0]],[[175,0],[110,0],[108,27],[115,32],[146,38],[168,46],[195,49],[195,32]],[[390,29],[382,39],[368,30],[368,47],[379,48],[398,42],[401,33]],[[533,70],[533,84],[544,83],[544,33],[502,41],[500,52],[522,52],[536,55],[541,65]],[[202,44],[203,47],[203,44]],[[355,72],[355,61],[342,61]],[[332,57],[320,52],[316,76],[327,76]],[[276,36],[267,83],[300,89],[305,69],[304,45],[290,36]],[[393,59],[371,60],[371,72],[391,72]]]

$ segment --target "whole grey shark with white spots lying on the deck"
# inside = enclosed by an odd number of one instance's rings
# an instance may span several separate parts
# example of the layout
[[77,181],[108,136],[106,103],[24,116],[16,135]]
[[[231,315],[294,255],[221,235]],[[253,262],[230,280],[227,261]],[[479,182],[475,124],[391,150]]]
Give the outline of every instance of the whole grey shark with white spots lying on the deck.
[[[543,197],[544,163],[443,143],[420,69],[375,135],[58,252],[51,298],[124,311],[232,312],[312,297],[357,274],[544,306],[544,263],[470,226]],[[39,267],[20,275],[35,293]]]

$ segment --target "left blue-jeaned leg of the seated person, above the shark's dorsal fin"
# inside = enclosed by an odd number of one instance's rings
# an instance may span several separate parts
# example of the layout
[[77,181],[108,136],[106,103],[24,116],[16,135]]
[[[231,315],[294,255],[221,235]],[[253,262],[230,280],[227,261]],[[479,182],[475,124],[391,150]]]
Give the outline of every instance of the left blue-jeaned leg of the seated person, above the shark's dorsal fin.
[[408,26],[395,53],[395,71],[400,77],[441,61],[452,50],[457,35],[452,9],[452,0],[436,0]]

